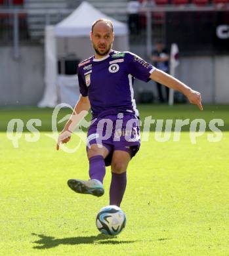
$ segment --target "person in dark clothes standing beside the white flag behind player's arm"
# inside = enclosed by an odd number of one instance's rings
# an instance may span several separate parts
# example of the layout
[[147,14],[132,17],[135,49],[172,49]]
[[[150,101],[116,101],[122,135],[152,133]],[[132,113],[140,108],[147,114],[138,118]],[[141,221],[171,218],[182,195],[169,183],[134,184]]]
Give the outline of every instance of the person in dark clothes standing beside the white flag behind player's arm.
[[[169,73],[169,54],[167,49],[165,49],[162,41],[157,41],[157,49],[152,52],[152,61],[154,62],[154,66],[162,70],[163,72]],[[169,87],[165,87],[166,98],[163,97],[162,93],[162,85],[160,83],[157,84],[157,92],[160,102],[168,102],[169,101]]]

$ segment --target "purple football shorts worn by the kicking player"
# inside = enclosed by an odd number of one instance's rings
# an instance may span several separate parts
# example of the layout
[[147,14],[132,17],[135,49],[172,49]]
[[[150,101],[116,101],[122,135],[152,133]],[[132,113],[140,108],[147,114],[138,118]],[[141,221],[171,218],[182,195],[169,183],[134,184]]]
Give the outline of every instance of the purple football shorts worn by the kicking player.
[[92,144],[105,146],[109,151],[106,166],[111,164],[115,150],[129,152],[133,158],[140,148],[139,122],[136,116],[123,113],[92,120],[87,133],[87,150]]

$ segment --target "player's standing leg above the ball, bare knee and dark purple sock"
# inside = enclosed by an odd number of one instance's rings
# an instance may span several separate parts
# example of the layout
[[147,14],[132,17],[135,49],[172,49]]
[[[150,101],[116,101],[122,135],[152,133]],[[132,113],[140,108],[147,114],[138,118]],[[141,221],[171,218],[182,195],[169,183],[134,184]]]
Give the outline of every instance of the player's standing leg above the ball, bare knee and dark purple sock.
[[120,206],[127,185],[127,166],[131,152],[127,148],[115,150],[112,157],[112,181],[110,184],[110,205]]

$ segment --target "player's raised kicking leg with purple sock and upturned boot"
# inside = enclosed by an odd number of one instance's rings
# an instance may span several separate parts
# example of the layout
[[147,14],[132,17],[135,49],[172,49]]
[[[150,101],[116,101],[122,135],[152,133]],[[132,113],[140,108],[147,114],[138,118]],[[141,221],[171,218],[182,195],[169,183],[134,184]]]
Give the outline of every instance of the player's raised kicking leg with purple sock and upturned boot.
[[108,147],[100,147],[97,144],[91,144],[90,148],[87,148],[87,156],[89,158],[89,181],[70,179],[68,186],[77,193],[102,196],[104,194],[102,182],[106,173],[104,158],[106,158],[108,154]]

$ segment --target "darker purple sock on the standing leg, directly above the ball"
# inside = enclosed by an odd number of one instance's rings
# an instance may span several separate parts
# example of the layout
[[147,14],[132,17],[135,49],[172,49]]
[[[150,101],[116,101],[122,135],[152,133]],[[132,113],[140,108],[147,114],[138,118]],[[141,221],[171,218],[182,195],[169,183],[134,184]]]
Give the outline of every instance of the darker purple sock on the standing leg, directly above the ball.
[[127,186],[127,172],[112,173],[112,182],[110,183],[110,205],[120,206],[121,200]]

